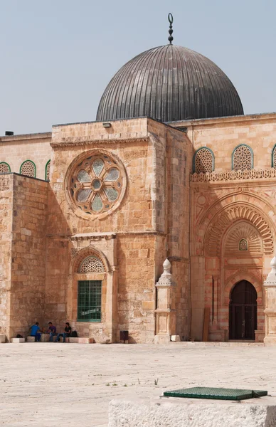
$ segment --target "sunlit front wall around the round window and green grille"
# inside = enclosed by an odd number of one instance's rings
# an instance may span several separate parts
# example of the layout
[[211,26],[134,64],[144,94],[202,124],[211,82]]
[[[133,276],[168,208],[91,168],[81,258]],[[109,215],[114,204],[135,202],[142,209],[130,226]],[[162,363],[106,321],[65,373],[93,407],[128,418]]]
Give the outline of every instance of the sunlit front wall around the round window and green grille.
[[[120,206],[112,214],[84,219],[68,201],[66,179],[72,162],[83,152],[88,157],[95,149],[120,159],[127,174],[127,188]],[[118,120],[112,122],[111,129],[101,123],[54,127],[53,150],[48,218],[47,271],[51,272],[46,285],[48,316],[53,317],[58,327],[69,320],[80,334],[96,340],[110,336],[118,340],[120,330],[129,330],[132,342],[153,342],[156,209],[161,214],[164,210],[154,205],[156,140],[148,135],[147,119]],[[108,233],[114,235],[116,245],[110,246]],[[60,248],[63,239],[68,248]],[[55,255],[50,253],[53,246]],[[102,278],[106,287],[106,299],[102,296],[102,322],[76,319],[80,275],[74,270],[75,258],[85,248],[99,251],[111,269]],[[112,320],[108,318],[110,315]]]

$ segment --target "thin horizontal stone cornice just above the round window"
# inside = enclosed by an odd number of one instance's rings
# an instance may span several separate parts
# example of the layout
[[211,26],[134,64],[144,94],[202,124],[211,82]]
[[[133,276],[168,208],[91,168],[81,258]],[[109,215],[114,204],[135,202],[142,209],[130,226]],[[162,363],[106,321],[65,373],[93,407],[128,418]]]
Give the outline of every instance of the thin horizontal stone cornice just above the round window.
[[132,144],[134,142],[147,142],[149,136],[144,137],[127,137],[120,138],[120,136],[112,135],[112,138],[105,139],[92,139],[91,136],[87,137],[64,137],[59,142],[51,142],[52,148],[63,148],[63,147],[78,147],[81,145],[94,145],[97,144]]

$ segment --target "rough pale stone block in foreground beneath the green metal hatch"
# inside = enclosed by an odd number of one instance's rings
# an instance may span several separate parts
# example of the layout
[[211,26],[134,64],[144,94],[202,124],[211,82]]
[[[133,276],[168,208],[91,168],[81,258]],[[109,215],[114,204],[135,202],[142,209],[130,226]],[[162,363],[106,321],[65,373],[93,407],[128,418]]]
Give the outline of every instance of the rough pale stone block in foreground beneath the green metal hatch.
[[109,427],[273,427],[276,399],[225,402],[203,399],[111,401]]

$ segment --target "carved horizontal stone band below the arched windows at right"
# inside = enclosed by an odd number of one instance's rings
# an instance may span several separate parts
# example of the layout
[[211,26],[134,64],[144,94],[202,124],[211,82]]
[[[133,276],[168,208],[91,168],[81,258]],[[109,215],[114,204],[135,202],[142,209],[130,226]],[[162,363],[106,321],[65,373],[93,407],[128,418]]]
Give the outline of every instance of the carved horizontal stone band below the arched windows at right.
[[276,178],[276,169],[250,169],[245,171],[206,172],[191,174],[191,182],[235,181],[238,179]]

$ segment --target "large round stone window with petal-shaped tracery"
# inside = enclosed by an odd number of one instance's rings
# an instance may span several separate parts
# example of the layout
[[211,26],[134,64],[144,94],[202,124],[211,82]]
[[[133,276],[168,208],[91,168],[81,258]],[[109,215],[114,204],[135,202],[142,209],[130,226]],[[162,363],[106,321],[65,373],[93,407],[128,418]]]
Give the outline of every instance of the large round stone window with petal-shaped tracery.
[[85,218],[105,216],[119,206],[124,196],[127,176],[124,166],[113,154],[86,153],[71,167],[70,201]]

